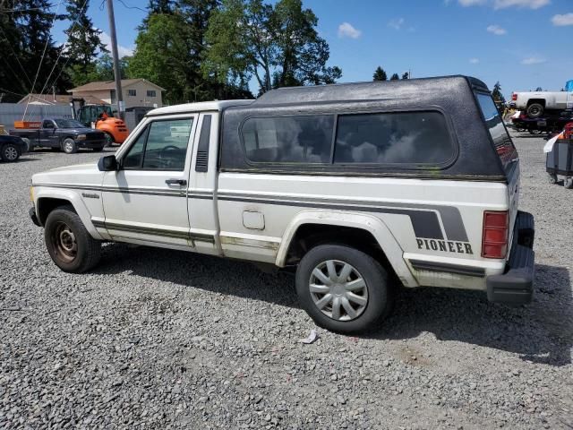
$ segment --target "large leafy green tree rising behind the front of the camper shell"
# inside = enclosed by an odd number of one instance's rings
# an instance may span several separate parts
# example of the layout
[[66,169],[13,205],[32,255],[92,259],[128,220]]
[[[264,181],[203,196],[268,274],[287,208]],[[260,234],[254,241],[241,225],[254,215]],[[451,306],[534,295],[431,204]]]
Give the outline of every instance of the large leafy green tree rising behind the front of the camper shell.
[[332,83],[342,75],[328,67],[329,46],[315,29],[318,19],[301,0],[223,0],[211,14],[202,65],[219,82],[254,76],[261,92],[286,85]]

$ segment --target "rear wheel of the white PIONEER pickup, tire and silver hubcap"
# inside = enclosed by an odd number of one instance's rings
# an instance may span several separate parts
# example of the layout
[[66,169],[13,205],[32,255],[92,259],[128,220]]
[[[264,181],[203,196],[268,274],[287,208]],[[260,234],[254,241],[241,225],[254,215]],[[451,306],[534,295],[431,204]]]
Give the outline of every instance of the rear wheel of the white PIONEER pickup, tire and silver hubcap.
[[375,328],[393,303],[380,262],[346,245],[319,245],[305,254],[296,270],[296,293],[317,325],[339,333]]

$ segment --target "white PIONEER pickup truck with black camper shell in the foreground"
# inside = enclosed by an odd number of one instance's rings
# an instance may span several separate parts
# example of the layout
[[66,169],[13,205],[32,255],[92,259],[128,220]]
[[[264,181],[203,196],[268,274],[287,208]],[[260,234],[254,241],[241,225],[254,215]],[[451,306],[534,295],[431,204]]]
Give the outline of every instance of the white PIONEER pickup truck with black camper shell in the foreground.
[[490,91],[453,76],[161,107],[115,155],[34,175],[30,216],[64,271],[112,241],[268,262],[296,271],[316,323],[353,332],[397,287],[531,300],[518,195]]

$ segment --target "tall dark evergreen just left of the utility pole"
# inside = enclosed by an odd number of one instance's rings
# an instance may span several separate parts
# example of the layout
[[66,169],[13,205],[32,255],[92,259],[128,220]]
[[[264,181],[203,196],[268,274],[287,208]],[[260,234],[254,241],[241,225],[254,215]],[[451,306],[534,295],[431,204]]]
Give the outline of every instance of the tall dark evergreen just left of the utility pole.
[[70,27],[64,31],[68,40],[66,55],[72,62],[73,85],[79,86],[90,82],[90,73],[95,72],[97,54],[107,53],[99,35],[88,17],[89,0],[68,0],[66,11]]

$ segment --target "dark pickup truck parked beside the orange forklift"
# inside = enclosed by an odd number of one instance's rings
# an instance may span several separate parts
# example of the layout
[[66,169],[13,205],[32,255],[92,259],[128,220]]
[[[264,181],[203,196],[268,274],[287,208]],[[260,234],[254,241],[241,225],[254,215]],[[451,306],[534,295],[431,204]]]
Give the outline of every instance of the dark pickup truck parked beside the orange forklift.
[[43,146],[72,154],[79,148],[103,150],[106,146],[105,133],[87,128],[75,119],[44,119],[40,128],[14,129],[10,134],[21,137],[29,144],[30,150]]

